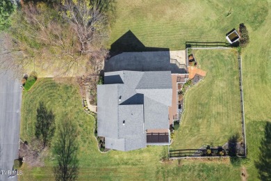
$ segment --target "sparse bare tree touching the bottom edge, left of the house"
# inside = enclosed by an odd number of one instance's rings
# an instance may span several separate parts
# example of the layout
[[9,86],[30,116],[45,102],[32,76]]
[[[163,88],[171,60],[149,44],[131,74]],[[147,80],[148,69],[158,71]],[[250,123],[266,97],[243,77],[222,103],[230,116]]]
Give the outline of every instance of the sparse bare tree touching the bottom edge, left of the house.
[[76,180],[78,177],[77,136],[77,127],[72,120],[69,118],[61,120],[54,144],[54,154],[58,162],[58,166],[54,167],[56,180]]

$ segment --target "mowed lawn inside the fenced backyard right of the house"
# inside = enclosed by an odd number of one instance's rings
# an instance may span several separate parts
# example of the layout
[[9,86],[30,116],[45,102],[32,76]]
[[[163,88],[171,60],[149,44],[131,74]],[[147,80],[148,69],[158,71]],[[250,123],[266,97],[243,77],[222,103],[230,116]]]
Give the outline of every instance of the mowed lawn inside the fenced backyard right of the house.
[[238,60],[233,49],[201,49],[192,53],[206,77],[185,95],[185,112],[172,149],[224,145],[242,136]]

